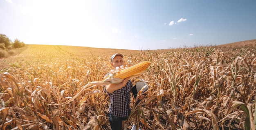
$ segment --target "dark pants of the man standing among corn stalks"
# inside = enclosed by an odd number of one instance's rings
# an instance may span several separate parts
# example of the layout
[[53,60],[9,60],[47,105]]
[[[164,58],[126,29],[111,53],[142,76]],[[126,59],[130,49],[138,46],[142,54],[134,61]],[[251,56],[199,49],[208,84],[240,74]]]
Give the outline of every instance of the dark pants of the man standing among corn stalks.
[[118,117],[116,115],[109,114],[109,121],[112,130],[122,130],[122,121],[127,118]]

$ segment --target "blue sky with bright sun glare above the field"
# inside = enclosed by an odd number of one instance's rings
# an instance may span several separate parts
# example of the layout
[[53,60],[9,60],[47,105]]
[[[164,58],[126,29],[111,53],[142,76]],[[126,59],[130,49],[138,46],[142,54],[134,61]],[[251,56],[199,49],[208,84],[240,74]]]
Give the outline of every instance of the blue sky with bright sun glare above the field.
[[0,33],[25,44],[132,50],[256,39],[256,0],[0,0]]

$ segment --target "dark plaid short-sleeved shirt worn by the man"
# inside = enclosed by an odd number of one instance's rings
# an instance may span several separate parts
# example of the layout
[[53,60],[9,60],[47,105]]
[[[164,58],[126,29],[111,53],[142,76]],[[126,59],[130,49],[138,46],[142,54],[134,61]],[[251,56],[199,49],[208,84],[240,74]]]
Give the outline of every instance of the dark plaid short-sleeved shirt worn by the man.
[[[106,74],[105,77],[109,75]],[[108,93],[110,95],[110,105],[108,108],[108,112],[112,115],[116,115],[118,117],[128,117],[131,108],[130,108],[130,89],[132,88],[132,82],[128,80],[126,86],[122,87],[119,90],[115,90],[113,93]]]

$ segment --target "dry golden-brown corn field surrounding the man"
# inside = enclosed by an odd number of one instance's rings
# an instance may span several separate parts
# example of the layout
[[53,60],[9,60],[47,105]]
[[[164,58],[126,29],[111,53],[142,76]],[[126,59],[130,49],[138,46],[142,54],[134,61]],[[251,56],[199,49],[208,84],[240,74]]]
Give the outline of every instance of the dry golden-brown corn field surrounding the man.
[[151,62],[137,77],[146,97],[131,94],[129,129],[255,130],[256,40],[147,51],[28,45],[0,59],[0,129],[110,130],[110,99],[90,82],[115,53],[126,65]]

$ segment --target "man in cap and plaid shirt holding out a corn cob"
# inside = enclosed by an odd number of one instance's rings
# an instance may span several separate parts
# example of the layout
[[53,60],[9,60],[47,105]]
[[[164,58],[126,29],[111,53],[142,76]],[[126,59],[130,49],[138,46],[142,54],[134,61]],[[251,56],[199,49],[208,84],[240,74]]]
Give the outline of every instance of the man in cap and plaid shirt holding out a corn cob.
[[[110,73],[118,73],[124,67],[124,56],[120,53],[112,55],[110,59],[113,70]],[[106,74],[109,75],[110,73]],[[106,77],[105,76],[105,77]],[[130,115],[130,89],[132,88],[132,82],[130,77],[124,79],[119,84],[109,84],[105,86],[105,90],[110,95],[110,105],[108,108],[110,126],[112,130],[121,130],[122,121],[126,120]],[[139,99],[143,99],[144,95],[139,95]]]

